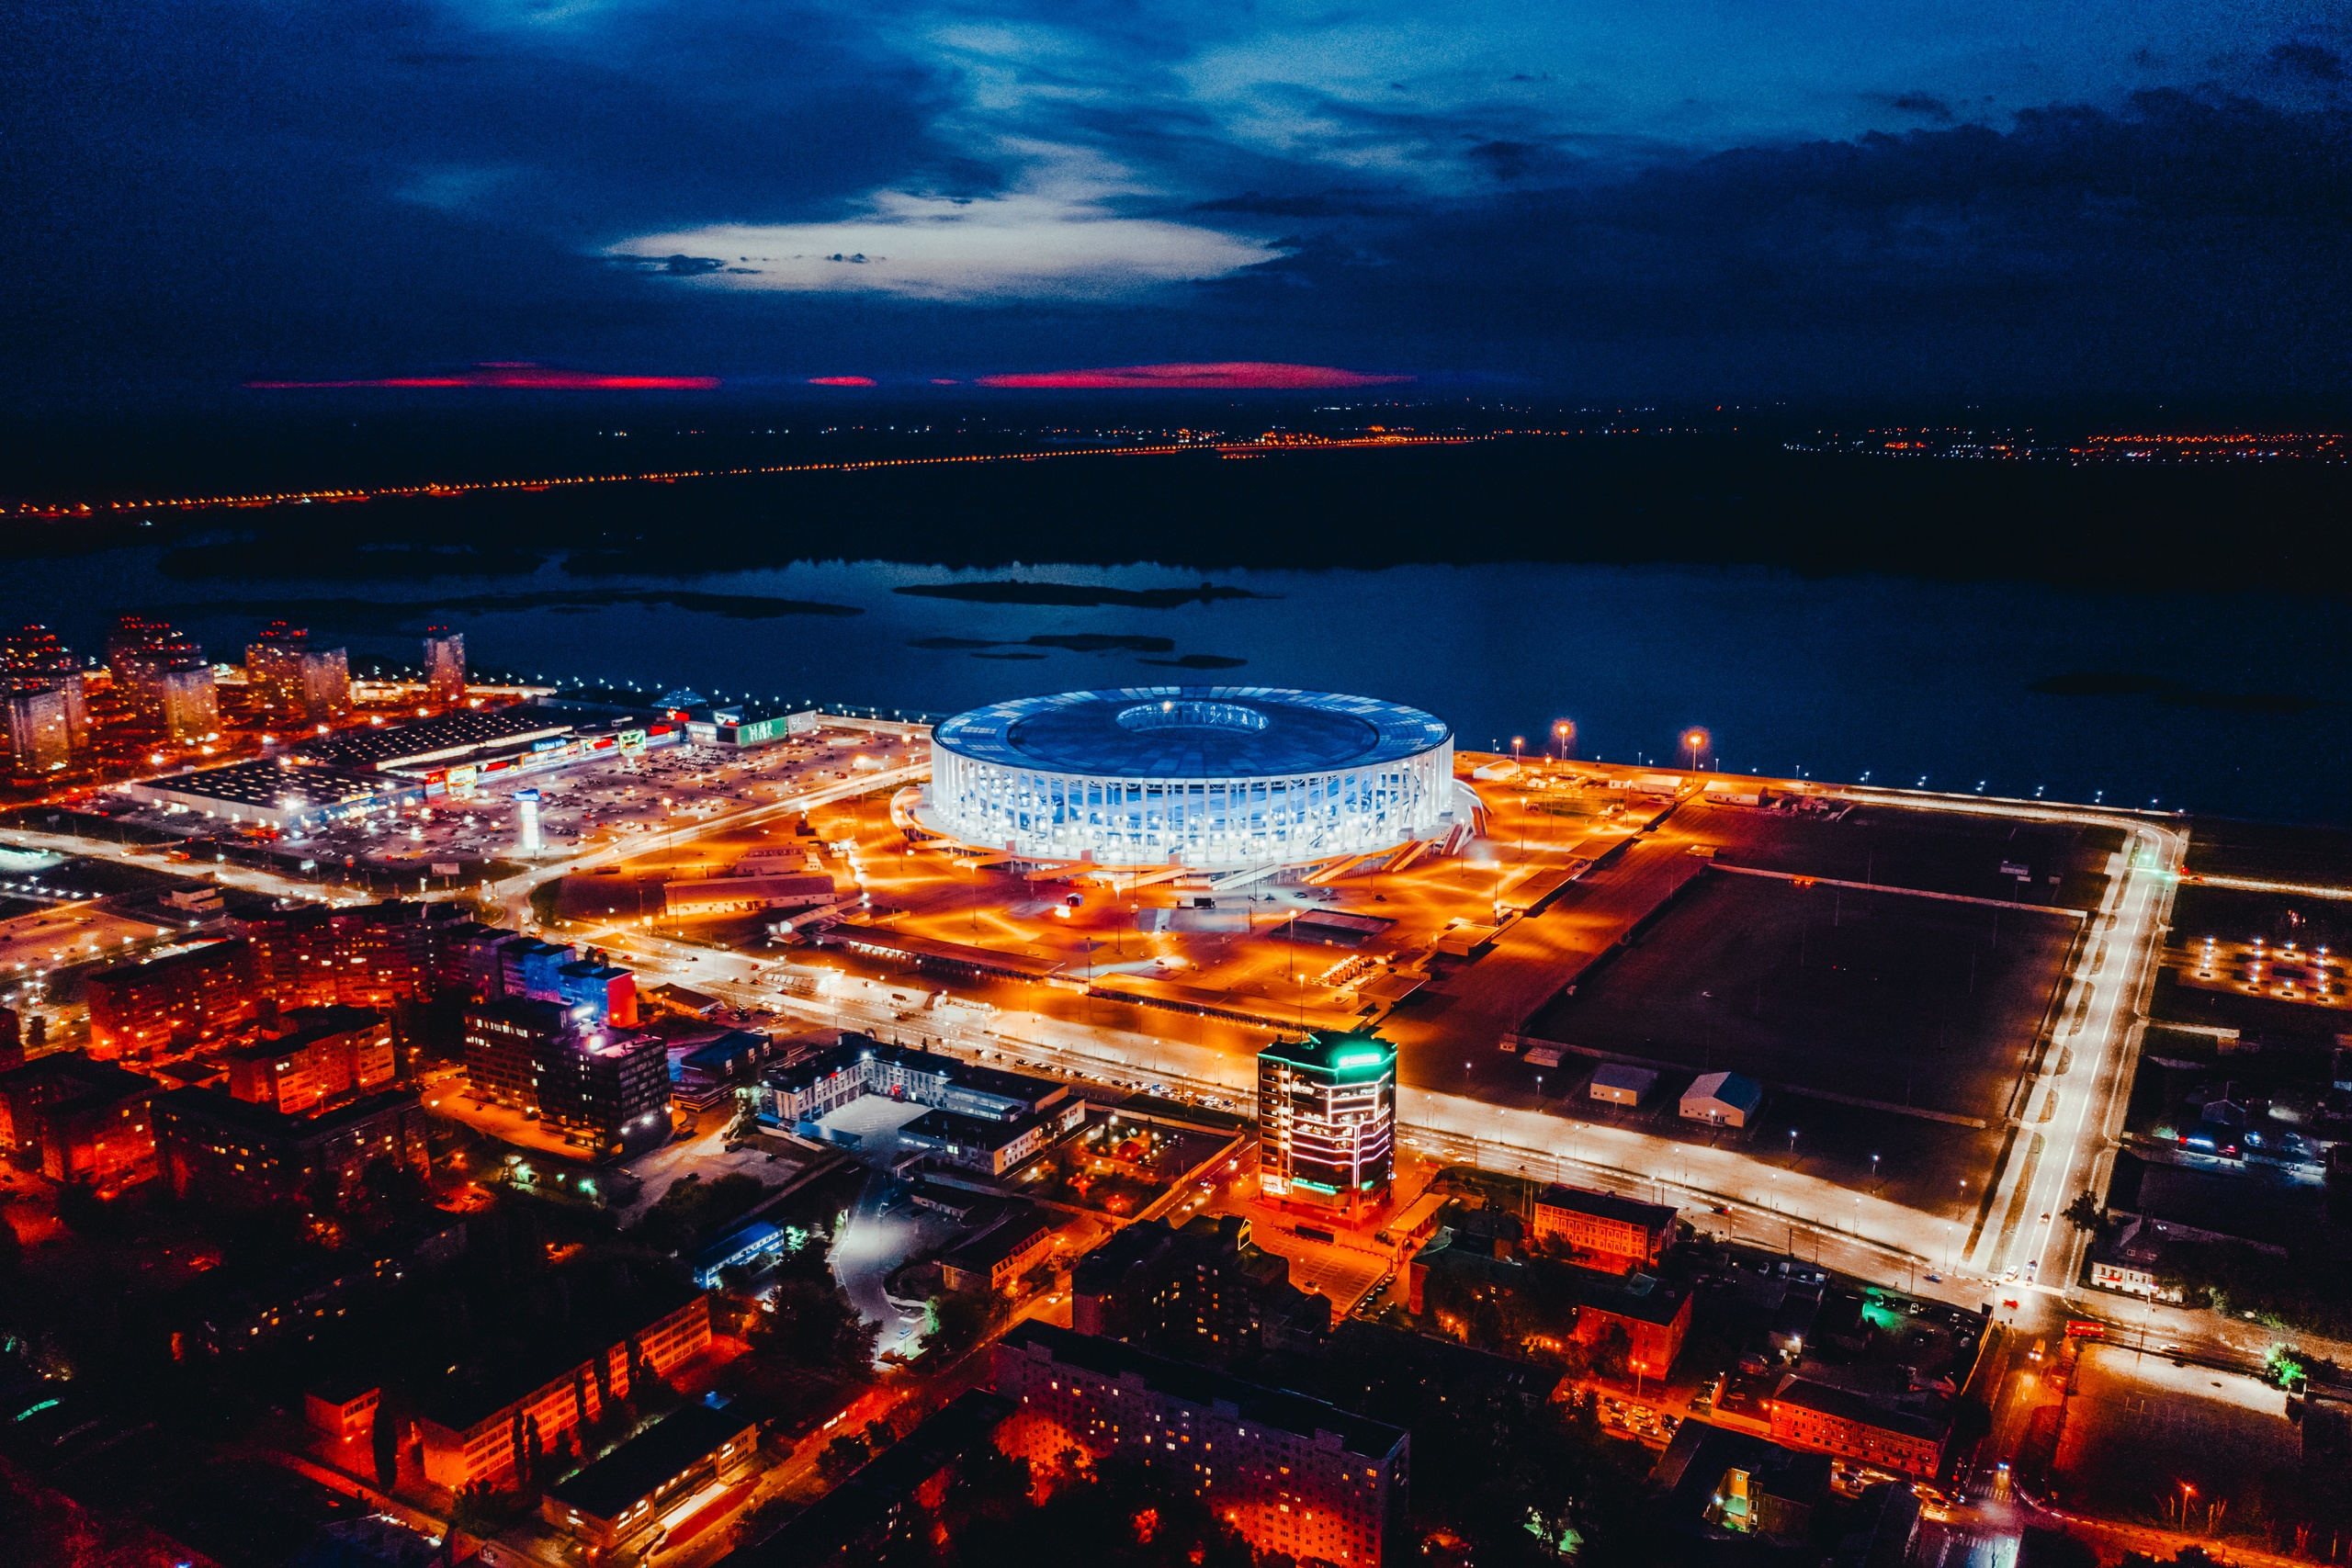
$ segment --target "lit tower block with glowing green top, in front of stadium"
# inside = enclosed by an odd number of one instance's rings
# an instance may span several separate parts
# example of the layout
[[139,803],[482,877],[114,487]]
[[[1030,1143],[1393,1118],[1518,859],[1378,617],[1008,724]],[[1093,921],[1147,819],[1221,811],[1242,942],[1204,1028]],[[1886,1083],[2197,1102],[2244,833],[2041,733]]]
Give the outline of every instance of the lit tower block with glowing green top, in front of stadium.
[[1308,1034],[1258,1051],[1258,1192],[1352,1213],[1388,1197],[1395,1164],[1392,1044]]

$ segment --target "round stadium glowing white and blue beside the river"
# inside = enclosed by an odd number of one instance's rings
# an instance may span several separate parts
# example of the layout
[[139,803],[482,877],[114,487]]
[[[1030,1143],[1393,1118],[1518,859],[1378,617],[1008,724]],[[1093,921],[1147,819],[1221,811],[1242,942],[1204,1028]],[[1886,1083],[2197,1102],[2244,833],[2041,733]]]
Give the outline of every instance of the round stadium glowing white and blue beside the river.
[[922,820],[978,849],[1101,865],[1303,865],[1435,837],[1454,731],[1418,708],[1279,686],[1120,686],[931,731]]

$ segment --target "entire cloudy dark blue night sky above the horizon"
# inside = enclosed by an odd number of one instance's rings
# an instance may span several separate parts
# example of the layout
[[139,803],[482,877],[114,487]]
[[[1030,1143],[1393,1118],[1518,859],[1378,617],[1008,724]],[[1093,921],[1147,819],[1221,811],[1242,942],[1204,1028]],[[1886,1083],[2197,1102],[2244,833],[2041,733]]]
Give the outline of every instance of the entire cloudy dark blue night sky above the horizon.
[[2347,59],[2260,0],[33,0],[0,376],[2326,397]]

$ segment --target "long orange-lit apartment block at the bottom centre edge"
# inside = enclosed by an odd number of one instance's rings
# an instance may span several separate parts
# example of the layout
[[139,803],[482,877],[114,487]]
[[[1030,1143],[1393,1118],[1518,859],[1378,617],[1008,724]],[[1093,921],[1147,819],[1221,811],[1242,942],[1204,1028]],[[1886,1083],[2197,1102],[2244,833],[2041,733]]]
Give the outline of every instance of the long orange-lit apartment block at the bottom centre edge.
[[997,1427],[1011,1458],[1134,1458],[1258,1554],[1378,1568],[1411,1552],[1402,1427],[1037,1319],[997,1340],[995,1392],[1014,1401]]

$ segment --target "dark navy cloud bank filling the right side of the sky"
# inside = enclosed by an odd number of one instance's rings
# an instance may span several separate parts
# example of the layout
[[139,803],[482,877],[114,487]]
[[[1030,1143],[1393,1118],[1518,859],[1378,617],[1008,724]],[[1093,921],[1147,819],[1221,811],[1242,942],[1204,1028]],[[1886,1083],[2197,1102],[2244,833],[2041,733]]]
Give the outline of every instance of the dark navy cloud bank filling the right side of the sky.
[[2314,393],[2352,341],[2345,212],[2352,118],[2150,92],[1423,202],[1218,292],[1399,322],[1390,362],[1498,364],[1512,322],[1515,369],[1606,390]]

